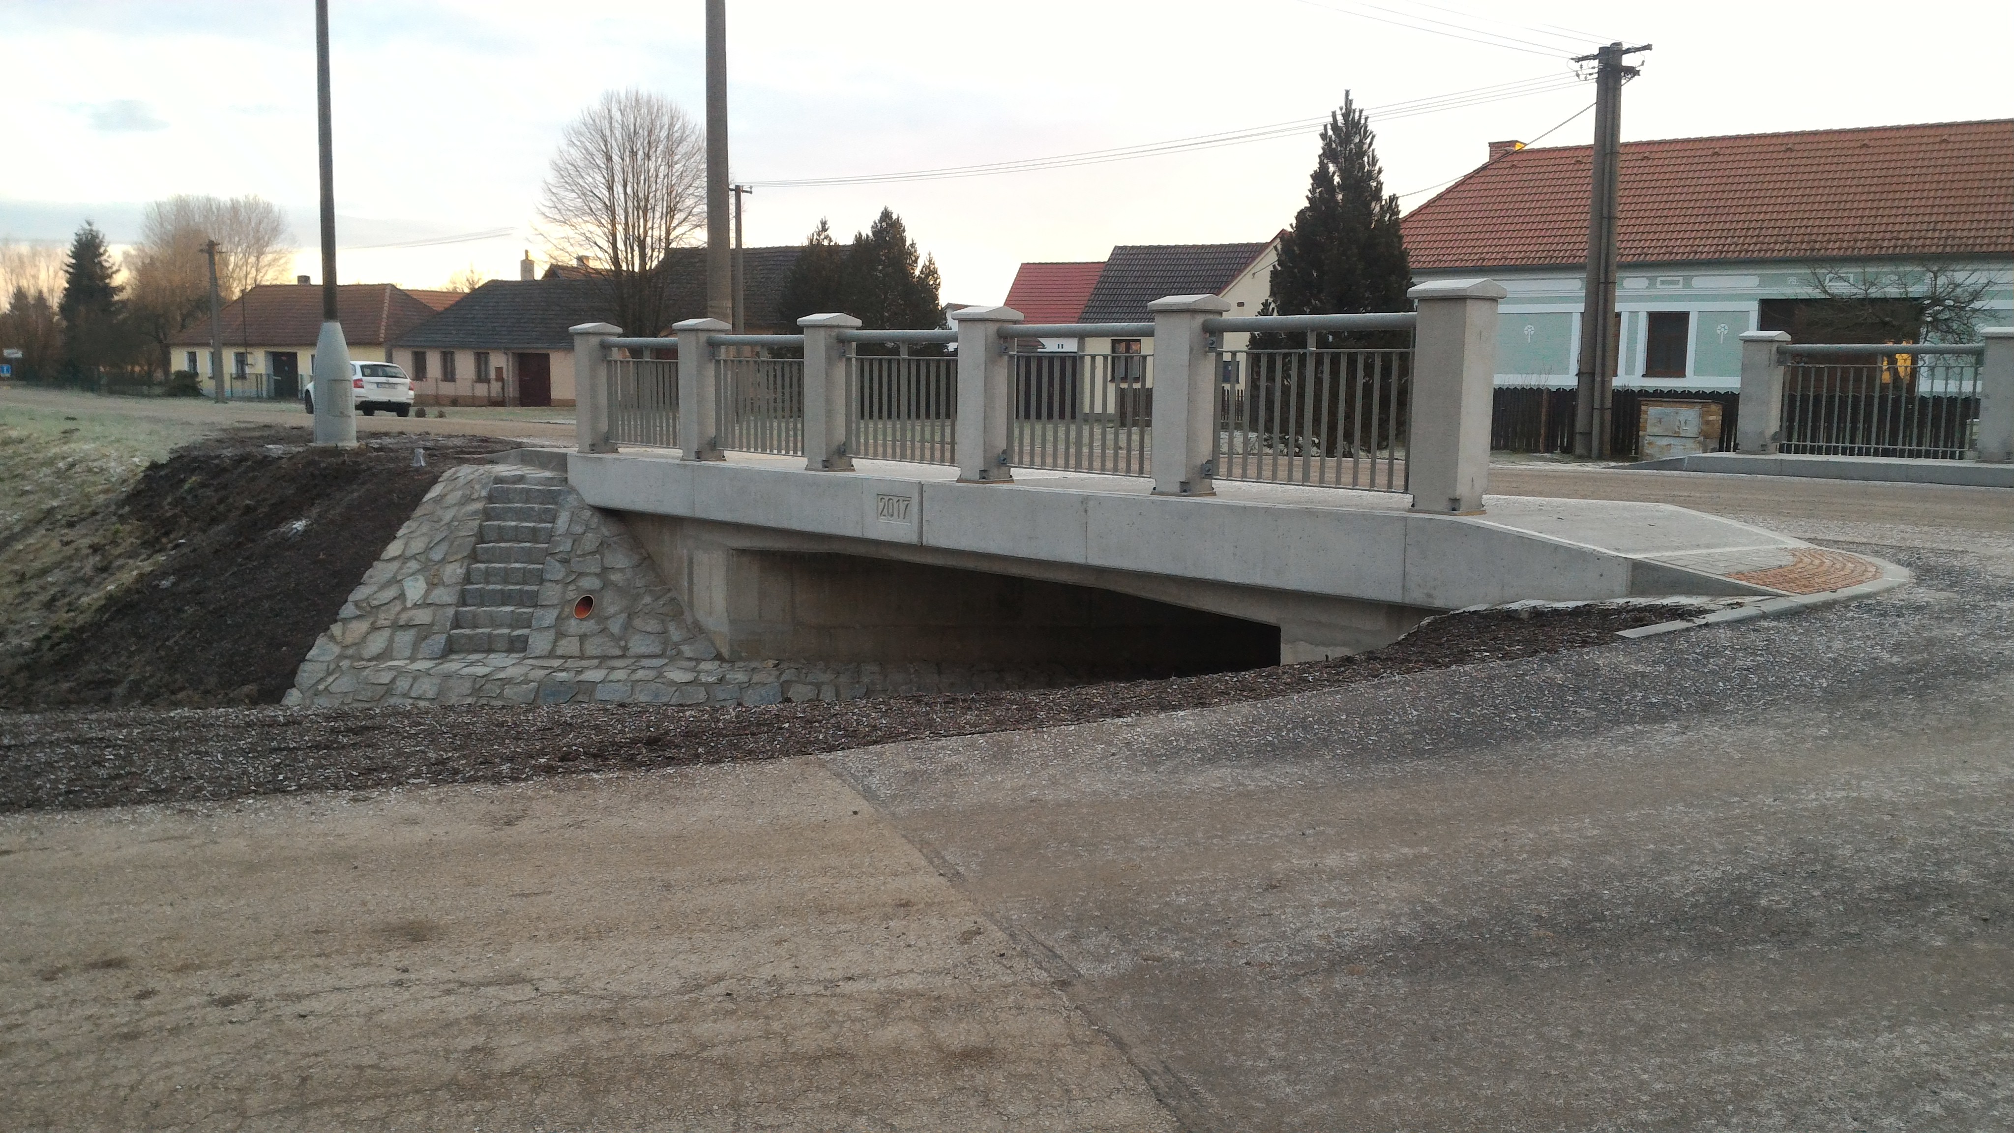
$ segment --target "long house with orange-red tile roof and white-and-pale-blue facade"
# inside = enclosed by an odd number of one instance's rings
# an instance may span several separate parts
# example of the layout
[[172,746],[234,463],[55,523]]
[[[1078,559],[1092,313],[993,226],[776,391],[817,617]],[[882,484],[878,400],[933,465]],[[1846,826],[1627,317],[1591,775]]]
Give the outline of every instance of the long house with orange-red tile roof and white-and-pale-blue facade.
[[[1492,143],[1402,222],[1414,278],[1510,292],[1500,387],[1573,387],[1589,161]],[[2014,119],[1631,141],[1619,185],[1617,389],[1738,389],[1740,333],[1799,337],[1821,280],[1933,262],[1992,284],[1982,325],[2014,323]]]

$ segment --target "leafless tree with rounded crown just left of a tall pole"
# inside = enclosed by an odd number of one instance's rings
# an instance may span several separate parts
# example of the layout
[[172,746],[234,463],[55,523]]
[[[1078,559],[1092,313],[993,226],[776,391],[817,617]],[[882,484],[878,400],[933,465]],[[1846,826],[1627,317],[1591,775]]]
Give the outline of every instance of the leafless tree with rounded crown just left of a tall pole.
[[707,222],[705,135],[663,95],[608,91],[560,135],[538,218],[552,260],[588,268],[608,288],[608,314],[655,335],[667,256]]

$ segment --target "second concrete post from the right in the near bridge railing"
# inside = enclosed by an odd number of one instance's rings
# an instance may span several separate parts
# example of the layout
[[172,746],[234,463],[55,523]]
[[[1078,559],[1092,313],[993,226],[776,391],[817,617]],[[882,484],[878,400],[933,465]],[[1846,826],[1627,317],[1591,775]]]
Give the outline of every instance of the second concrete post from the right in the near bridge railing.
[[1214,294],[1170,294],[1154,314],[1154,494],[1214,496],[1216,355],[1202,321],[1231,310]]

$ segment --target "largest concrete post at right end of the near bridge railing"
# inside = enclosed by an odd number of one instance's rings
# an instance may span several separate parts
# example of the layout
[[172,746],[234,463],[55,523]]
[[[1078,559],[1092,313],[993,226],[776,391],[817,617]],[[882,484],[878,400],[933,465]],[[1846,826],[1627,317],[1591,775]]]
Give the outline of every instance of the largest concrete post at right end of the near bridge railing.
[[1490,486],[1496,397],[1496,304],[1490,280],[1440,280],[1406,292],[1420,304],[1412,339],[1412,510],[1472,516]]

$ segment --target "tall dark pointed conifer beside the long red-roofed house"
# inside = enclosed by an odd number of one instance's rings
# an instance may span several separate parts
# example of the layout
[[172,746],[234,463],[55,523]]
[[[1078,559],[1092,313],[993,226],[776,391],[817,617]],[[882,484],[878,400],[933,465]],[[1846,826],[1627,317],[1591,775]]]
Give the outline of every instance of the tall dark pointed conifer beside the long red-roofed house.
[[1376,135],[1345,93],[1321,127],[1307,204],[1279,240],[1269,304],[1279,314],[1406,310],[1410,286],[1398,198],[1386,196]]

